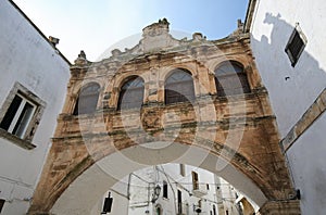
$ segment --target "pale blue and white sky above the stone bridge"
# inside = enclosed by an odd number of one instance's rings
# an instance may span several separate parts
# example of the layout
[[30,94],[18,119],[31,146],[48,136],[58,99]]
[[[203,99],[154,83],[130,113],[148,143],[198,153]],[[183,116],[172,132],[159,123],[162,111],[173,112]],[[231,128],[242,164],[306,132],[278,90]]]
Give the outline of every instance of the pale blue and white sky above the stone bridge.
[[106,49],[134,35],[140,38],[143,27],[163,17],[172,31],[190,38],[193,33],[210,40],[224,38],[237,28],[237,20],[244,21],[248,7],[248,0],[13,1],[47,37],[60,39],[57,48],[72,63],[80,50],[98,61]]

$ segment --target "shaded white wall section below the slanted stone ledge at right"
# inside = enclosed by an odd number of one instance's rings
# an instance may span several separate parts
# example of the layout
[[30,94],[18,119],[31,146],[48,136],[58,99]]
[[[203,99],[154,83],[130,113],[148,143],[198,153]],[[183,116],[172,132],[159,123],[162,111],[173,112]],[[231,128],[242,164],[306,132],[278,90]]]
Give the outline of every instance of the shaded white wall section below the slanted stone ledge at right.
[[325,214],[325,127],[326,114],[324,113],[287,153],[296,188],[301,191],[302,214]]

